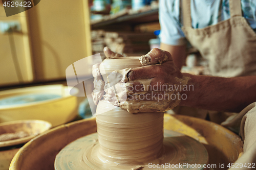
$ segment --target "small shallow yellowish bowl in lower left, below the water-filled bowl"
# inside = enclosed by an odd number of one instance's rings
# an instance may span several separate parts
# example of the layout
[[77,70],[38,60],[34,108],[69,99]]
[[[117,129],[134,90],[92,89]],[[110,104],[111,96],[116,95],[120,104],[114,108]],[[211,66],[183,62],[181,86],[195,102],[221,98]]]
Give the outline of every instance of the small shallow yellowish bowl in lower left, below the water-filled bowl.
[[[19,131],[30,134],[27,137],[0,142],[0,170],[9,169],[14,155],[18,152],[22,143],[26,143],[36,135],[51,129],[52,125],[43,120],[16,120],[0,124],[0,135]],[[4,147],[4,148],[3,148]]]

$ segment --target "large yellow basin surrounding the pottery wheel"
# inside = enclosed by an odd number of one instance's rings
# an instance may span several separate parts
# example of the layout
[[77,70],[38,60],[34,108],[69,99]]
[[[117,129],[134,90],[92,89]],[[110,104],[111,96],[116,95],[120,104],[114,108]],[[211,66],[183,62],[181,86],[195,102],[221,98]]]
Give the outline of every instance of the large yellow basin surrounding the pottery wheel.
[[[209,164],[234,162],[243,151],[238,135],[203,119],[165,114],[164,129],[184,133],[203,143],[209,154]],[[96,130],[95,118],[89,118],[42,133],[17,152],[9,170],[54,169],[55,157],[63,147]],[[221,170],[218,166],[216,169]]]

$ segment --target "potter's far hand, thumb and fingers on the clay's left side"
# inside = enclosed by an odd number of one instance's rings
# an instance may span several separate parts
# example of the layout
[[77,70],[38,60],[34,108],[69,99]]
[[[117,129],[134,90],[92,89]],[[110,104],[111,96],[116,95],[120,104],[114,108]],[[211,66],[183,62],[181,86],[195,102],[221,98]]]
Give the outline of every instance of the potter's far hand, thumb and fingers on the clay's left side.
[[[105,46],[103,49],[103,52],[106,56],[106,58],[116,58],[116,57],[122,57],[121,54],[112,52],[109,47]],[[94,77],[94,90],[92,92],[93,102],[95,105],[98,104],[99,100],[102,99],[104,95],[104,85],[105,82],[102,79],[102,76],[100,74],[99,70],[100,63],[94,64],[92,68],[92,74]]]

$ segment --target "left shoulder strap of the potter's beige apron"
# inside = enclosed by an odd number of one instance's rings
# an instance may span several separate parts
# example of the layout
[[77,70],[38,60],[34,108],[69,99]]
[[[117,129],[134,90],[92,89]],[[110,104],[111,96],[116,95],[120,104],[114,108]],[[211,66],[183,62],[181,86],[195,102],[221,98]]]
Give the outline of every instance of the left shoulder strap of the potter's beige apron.
[[[237,1],[237,0],[231,0]],[[191,27],[190,0],[181,0],[183,26]]]

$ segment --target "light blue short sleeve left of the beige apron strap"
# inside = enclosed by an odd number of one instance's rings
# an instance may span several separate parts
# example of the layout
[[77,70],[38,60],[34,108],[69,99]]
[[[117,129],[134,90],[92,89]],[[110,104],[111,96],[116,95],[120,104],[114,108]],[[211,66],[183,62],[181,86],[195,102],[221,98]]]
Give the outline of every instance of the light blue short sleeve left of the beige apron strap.
[[187,41],[181,30],[180,0],[159,1],[160,40],[168,45],[186,45]]

